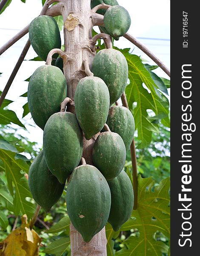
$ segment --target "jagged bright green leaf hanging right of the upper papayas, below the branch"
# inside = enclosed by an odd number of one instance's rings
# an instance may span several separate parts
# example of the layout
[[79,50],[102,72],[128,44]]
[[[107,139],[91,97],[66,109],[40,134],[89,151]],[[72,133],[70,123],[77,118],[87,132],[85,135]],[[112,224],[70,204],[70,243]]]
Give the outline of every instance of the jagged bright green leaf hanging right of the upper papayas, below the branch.
[[[130,84],[127,85],[125,93],[129,108],[135,119],[135,128],[138,130],[140,144],[137,145],[137,148],[145,148],[151,143],[152,132],[159,133],[158,125],[154,122],[157,118],[149,119],[150,116],[147,110],[152,110],[155,113],[155,117],[166,118],[169,115],[169,101],[157,90],[157,88],[160,89],[160,87],[164,86],[164,84],[161,86],[162,81],[158,81],[157,76],[151,70],[146,69],[140,57],[130,54],[128,50],[121,50],[129,66]],[[155,76],[152,75],[152,78],[149,72]],[[146,85],[150,92],[143,84]],[[136,106],[134,105],[135,103],[137,103]]]

